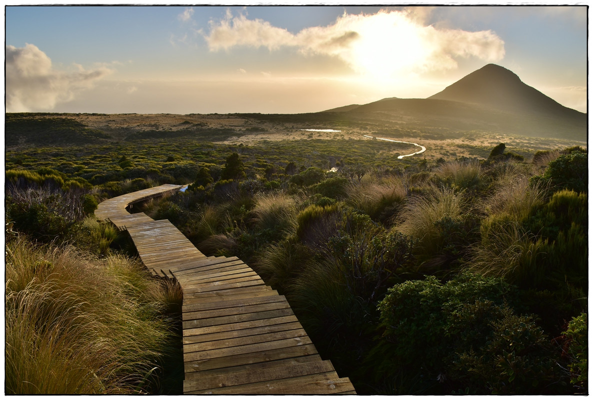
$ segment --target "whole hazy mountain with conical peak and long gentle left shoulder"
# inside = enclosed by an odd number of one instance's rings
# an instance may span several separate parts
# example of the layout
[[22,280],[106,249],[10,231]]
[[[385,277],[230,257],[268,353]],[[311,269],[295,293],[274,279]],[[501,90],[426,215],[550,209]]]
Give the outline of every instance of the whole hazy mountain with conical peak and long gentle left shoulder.
[[[586,141],[587,116],[557,103],[519,77],[489,64],[429,98],[384,98],[324,111],[400,127],[482,130]],[[420,129],[422,130],[422,129]]]

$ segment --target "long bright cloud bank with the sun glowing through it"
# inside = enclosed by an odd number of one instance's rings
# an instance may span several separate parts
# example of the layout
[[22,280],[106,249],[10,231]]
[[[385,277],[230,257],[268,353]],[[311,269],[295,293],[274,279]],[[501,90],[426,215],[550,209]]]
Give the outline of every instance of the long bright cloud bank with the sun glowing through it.
[[295,47],[304,55],[334,56],[353,71],[388,75],[402,71],[439,71],[457,67],[456,57],[496,62],[504,42],[490,30],[470,32],[426,25],[415,9],[377,14],[343,14],[332,25],[309,27],[293,34],[267,21],[233,16],[210,21],[203,36],[211,51],[236,46]]

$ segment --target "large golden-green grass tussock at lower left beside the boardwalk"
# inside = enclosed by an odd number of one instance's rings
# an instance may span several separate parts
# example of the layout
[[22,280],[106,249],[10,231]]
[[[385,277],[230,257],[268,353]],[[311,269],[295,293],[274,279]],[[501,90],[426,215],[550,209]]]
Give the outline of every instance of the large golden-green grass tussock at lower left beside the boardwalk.
[[11,394],[146,393],[173,349],[163,311],[180,302],[123,256],[7,245],[6,380]]

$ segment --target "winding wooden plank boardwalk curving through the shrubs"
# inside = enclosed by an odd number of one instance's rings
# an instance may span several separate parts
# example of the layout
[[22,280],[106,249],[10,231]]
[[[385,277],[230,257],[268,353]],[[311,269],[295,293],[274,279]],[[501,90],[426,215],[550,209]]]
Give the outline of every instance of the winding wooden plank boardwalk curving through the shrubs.
[[155,276],[183,289],[185,394],[356,394],[292,312],[237,257],[206,257],[168,220],[130,214],[133,203],[175,193],[161,185],[103,201],[95,211],[127,230]]

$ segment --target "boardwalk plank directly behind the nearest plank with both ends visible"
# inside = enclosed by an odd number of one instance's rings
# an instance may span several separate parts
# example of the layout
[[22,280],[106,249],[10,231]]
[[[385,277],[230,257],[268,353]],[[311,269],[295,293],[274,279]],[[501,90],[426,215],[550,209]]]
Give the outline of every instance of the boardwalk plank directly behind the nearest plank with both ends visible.
[[[187,374],[190,372],[221,370],[228,367],[246,366],[248,364],[306,356],[314,356],[315,359],[319,359],[319,354],[317,354],[317,349],[313,344],[276,348],[273,350],[258,351],[256,353],[239,354],[237,356],[218,357],[216,359],[187,361],[184,363],[184,370]],[[188,379],[187,376],[186,379]]]

